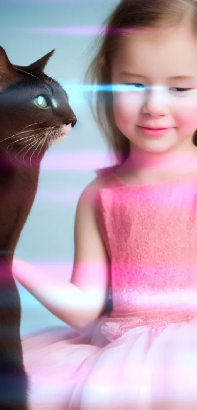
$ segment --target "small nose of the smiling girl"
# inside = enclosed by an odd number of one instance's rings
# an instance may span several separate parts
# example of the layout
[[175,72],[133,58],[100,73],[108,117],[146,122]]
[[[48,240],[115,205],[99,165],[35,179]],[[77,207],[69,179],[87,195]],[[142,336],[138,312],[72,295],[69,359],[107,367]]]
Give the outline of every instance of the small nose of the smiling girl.
[[142,111],[152,116],[167,115],[169,112],[166,90],[164,87],[150,87],[145,92]]

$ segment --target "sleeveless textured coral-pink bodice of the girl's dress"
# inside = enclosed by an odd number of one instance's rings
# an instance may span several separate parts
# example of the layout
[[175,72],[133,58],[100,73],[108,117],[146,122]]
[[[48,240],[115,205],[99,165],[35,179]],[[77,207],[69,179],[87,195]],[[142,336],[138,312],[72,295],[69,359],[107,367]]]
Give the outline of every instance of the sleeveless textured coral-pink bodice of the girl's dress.
[[113,311],[197,306],[197,173],[99,190]]

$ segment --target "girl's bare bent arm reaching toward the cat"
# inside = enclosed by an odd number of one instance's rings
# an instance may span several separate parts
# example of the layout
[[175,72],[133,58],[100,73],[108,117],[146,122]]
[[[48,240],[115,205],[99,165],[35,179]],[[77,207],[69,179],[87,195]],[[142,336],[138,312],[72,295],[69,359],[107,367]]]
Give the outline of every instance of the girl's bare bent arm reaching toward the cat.
[[13,275],[52,314],[79,329],[96,320],[107,302],[109,259],[98,229],[95,207],[97,180],[81,195],[75,218],[75,258],[70,282],[50,278],[20,259]]

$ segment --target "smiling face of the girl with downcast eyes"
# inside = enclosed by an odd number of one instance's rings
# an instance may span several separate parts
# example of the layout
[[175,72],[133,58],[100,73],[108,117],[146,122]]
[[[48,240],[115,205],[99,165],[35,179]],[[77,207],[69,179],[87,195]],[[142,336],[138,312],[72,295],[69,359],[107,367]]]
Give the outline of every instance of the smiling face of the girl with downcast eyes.
[[113,112],[132,148],[194,148],[197,43],[188,26],[124,37],[112,62],[111,80],[112,85],[128,85],[113,91]]

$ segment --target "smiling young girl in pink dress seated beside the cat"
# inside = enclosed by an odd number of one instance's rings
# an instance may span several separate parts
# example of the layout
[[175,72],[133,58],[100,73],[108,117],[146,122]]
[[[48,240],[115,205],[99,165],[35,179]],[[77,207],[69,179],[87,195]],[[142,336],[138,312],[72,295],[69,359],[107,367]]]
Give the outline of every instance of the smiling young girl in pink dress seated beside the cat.
[[121,1],[87,78],[117,163],[79,200],[70,283],[14,262],[71,326],[23,341],[29,409],[196,410],[197,1]]

